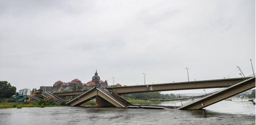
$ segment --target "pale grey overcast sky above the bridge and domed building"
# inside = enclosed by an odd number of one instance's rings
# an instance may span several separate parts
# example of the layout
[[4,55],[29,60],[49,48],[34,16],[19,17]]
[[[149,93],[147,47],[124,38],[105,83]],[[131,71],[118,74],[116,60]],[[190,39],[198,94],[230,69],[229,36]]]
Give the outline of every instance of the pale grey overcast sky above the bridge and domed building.
[[109,85],[188,81],[186,67],[190,81],[249,76],[255,0],[0,0],[0,47],[0,80],[17,90],[95,70]]

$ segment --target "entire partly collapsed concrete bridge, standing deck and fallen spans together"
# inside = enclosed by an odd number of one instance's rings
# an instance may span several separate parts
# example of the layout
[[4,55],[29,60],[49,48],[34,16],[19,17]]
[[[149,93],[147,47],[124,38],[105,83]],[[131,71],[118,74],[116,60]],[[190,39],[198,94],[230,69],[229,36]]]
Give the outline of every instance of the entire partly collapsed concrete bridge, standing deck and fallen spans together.
[[[152,85],[134,85],[126,87],[110,88],[91,88],[90,90],[58,92],[53,93],[56,96],[79,95],[75,99],[67,102],[69,106],[79,106],[91,99],[96,98],[96,107],[127,107],[127,108],[161,108],[161,109],[202,109],[221,100],[232,97],[238,93],[247,91],[255,87],[255,77],[204,80],[192,82],[152,84]],[[138,92],[156,92],[172,90],[190,90],[205,88],[225,88],[219,92],[208,95],[204,98],[189,102],[182,107],[165,107],[165,106],[143,106],[133,105],[122,98],[121,94],[138,93]]]

